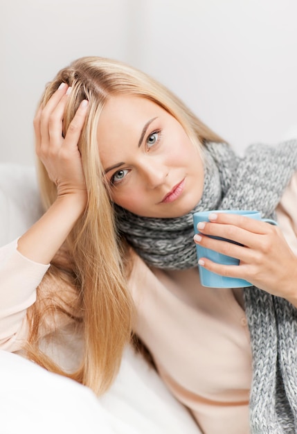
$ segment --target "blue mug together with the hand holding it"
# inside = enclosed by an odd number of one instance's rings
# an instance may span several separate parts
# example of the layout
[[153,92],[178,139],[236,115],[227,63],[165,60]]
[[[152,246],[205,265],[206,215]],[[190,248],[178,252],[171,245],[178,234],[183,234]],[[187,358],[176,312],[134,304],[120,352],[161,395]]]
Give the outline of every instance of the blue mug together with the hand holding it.
[[204,286],[255,285],[287,300],[295,297],[297,258],[276,222],[261,220],[258,211],[195,213],[194,238]]

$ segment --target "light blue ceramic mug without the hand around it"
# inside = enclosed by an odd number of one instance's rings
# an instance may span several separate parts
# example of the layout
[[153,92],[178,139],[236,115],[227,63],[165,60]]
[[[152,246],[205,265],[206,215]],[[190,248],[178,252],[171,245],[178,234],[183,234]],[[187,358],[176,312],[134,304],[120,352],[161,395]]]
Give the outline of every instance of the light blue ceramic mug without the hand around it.
[[[260,211],[245,211],[243,209],[215,209],[210,211],[196,212],[195,214],[193,214],[195,234],[199,234],[199,230],[197,229],[198,223],[208,222],[208,215],[213,213],[239,214],[240,216],[254,218],[255,220],[262,220],[264,222],[271,223],[271,225],[278,224],[276,223],[276,221],[271,220],[271,218],[261,218]],[[216,236],[214,236],[213,238],[230,241],[226,240],[226,238],[219,238]],[[233,243],[233,241],[230,242]],[[240,263],[240,261],[236,258],[228,257],[225,254],[215,252],[215,250],[204,248],[199,244],[196,245],[196,250],[198,261],[200,258],[208,258],[210,259],[210,261],[222,263],[226,266],[239,265]],[[206,268],[199,265],[198,268],[201,285],[207,286],[208,288],[244,288],[245,286],[252,286],[249,281],[246,281],[244,279],[237,279],[237,277],[220,276],[217,275],[215,272],[206,270]]]

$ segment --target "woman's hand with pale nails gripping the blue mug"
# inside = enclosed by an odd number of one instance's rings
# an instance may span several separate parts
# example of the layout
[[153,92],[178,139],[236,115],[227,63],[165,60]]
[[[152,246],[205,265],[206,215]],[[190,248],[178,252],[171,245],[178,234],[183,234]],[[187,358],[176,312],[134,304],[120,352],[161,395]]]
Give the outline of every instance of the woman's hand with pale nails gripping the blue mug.
[[[267,292],[284,297],[297,306],[297,257],[278,226],[235,214],[215,214],[199,227],[201,240],[195,242],[216,252],[235,257],[240,266],[223,266],[201,258],[207,270],[219,275],[246,279]],[[231,239],[241,245],[210,238]]]

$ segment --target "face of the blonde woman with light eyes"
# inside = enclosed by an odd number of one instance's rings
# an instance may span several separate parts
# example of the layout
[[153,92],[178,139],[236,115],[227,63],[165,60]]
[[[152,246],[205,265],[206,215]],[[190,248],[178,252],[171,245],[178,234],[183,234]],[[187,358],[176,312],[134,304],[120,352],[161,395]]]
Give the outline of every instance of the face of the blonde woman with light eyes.
[[181,124],[138,96],[112,96],[98,124],[111,200],[138,216],[171,218],[199,202],[204,169]]

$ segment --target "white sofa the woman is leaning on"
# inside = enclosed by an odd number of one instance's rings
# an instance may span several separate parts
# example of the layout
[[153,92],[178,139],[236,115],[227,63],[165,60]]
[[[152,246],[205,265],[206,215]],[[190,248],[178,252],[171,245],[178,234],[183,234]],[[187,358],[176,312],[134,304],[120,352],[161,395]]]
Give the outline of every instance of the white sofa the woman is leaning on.
[[[0,211],[1,246],[41,214],[34,168],[0,164]],[[200,433],[186,408],[132,348],[100,399],[74,381],[0,351],[0,409],[1,434]]]

